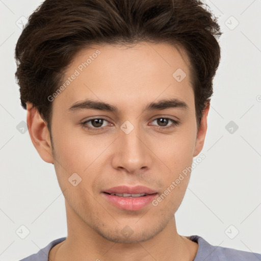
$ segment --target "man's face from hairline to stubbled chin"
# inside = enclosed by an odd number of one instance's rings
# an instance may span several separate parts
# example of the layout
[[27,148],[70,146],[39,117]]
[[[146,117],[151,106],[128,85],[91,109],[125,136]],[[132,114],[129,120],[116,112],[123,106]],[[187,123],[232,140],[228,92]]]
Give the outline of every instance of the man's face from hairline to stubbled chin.
[[72,61],[52,101],[53,156],[39,152],[54,162],[67,219],[122,243],[148,240],[173,219],[190,178],[180,173],[206,130],[203,122],[197,134],[185,57],[168,44],[140,43],[83,49]]

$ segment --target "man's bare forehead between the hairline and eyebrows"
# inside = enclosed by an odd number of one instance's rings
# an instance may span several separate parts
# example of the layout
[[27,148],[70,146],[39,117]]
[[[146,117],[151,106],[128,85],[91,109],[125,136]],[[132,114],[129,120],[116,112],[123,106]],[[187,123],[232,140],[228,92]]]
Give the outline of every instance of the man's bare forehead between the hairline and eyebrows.
[[188,99],[193,93],[190,73],[186,53],[170,44],[96,45],[74,57],[55,103],[69,107],[92,98],[126,106],[159,96]]

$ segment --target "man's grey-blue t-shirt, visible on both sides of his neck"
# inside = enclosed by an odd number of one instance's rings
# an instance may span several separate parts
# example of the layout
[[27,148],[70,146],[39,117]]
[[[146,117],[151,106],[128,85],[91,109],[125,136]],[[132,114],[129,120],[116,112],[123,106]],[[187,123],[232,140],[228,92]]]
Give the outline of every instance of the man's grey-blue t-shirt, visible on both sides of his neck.
[[[198,243],[198,251],[193,261],[261,261],[261,254],[241,251],[237,249],[212,246],[199,236],[189,236],[189,240]],[[52,241],[36,254],[30,255],[20,261],[48,261],[48,253],[52,247],[64,241],[60,238]]]

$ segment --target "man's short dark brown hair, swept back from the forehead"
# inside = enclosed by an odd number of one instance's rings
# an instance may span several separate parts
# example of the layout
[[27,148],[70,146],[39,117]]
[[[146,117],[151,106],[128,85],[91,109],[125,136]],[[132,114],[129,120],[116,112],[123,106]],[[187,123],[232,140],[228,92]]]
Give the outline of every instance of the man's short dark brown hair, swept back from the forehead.
[[167,42],[191,64],[197,126],[220,62],[217,18],[197,0],[46,0],[29,17],[15,59],[21,105],[32,102],[50,131],[47,99],[78,51],[94,44]]

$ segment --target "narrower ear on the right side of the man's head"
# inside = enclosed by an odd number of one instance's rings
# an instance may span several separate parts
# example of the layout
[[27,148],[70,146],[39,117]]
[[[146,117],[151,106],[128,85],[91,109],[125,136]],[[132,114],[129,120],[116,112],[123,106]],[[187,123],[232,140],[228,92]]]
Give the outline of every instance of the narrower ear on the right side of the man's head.
[[202,150],[204,145],[206,129],[207,129],[207,114],[209,110],[210,110],[210,103],[208,102],[207,106],[205,107],[202,113],[202,118],[200,121],[200,126],[198,129],[196,143],[195,143],[195,149],[193,154],[194,157],[199,154],[199,152]]

